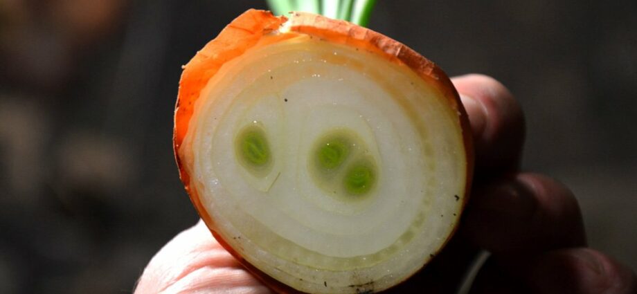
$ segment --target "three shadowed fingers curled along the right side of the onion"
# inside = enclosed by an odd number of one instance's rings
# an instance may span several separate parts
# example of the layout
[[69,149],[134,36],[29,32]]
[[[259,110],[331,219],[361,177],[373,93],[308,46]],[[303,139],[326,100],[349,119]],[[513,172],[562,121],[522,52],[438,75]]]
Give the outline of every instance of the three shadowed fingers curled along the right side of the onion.
[[456,249],[492,253],[470,293],[637,293],[627,266],[586,248],[571,191],[546,176],[519,172],[524,120],[511,93],[482,75],[452,80],[474,133],[476,177],[455,244],[440,259],[466,268],[458,262],[467,254]]

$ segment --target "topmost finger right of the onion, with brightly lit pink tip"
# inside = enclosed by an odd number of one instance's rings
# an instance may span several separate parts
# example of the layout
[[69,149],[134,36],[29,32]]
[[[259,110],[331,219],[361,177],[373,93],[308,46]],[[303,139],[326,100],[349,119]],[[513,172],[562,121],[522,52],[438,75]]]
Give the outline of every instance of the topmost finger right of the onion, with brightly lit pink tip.
[[485,75],[451,79],[460,93],[472,125],[477,176],[517,170],[524,141],[524,118],[513,95]]

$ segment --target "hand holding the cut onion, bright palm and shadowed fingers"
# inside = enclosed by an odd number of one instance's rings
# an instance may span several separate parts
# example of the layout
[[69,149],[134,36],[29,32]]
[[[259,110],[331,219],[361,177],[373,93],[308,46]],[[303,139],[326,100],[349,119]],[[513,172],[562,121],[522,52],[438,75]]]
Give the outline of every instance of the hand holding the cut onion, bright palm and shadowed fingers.
[[[627,266],[586,248],[577,200],[541,174],[519,172],[524,119],[499,82],[483,75],[452,79],[469,113],[476,178],[460,228],[420,273],[391,293],[454,293],[478,250],[492,252],[471,293],[634,294]],[[212,237],[202,221],[150,261],[143,293],[271,293]]]

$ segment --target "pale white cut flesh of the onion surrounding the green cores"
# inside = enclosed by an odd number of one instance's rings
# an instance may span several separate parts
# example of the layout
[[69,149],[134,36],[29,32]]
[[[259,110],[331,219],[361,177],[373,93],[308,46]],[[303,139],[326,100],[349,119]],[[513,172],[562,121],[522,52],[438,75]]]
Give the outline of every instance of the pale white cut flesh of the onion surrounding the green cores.
[[[405,66],[297,37],[224,64],[180,154],[214,229],[253,266],[308,293],[379,291],[422,268],[456,226],[467,158],[445,99]],[[254,122],[270,143],[265,176],[235,156]],[[312,176],[314,144],[334,129],[354,131],[375,159],[369,194],[334,196]]]

